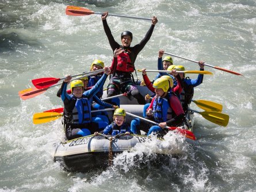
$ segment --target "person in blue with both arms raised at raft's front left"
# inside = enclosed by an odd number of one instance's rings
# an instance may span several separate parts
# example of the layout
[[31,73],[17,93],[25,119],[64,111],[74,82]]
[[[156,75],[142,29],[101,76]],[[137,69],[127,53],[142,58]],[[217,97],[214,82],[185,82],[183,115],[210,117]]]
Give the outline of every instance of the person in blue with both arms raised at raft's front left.
[[91,103],[93,96],[100,91],[110,72],[110,68],[105,67],[104,75],[88,91],[83,91],[82,80],[73,80],[70,85],[71,95],[67,94],[67,84],[72,79],[71,75],[67,75],[63,80],[60,93],[64,103],[64,129],[68,140],[91,135],[91,133],[103,130],[108,125],[106,122],[91,121]]

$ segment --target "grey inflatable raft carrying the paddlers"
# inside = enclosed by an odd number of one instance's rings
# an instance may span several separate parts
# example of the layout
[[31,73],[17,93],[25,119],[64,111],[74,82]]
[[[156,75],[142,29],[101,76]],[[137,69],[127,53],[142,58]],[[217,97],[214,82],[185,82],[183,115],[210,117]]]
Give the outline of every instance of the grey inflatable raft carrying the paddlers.
[[[153,93],[147,87],[138,86],[142,95],[152,95]],[[103,98],[106,97],[106,91]],[[128,99],[120,97],[120,107],[126,112],[143,117],[144,105],[139,105],[136,99]],[[109,119],[112,114],[109,113]],[[134,117],[127,116],[125,121],[131,122]],[[186,116],[188,129],[193,130],[194,116],[189,113]],[[192,139],[186,138],[190,143]],[[90,135],[80,137],[78,139],[64,141],[56,147],[54,154],[55,162],[60,164],[69,171],[86,172],[95,168],[104,168],[111,161],[111,157],[117,153],[132,149],[137,143],[151,141],[151,137],[144,135],[120,135],[120,136],[105,136],[105,135]],[[161,154],[160,154],[161,155]]]

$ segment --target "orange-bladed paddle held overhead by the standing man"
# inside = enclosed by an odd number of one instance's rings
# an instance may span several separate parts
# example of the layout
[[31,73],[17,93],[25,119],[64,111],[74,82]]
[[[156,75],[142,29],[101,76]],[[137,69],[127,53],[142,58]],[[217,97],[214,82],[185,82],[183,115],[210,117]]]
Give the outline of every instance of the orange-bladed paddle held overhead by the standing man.
[[[89,16],[90,14],[102,15],[102,13],[97,13],[97,12],[94,12],[90,9],[86,9],[83,7],[78,7],[78,6],[67,6],[66,7],[66,15],[68,15],[68,16]],[[152,20],[151,18],[123,16],[123,15],[118,15],[118,14],[108,14],[108,16],[135,18],[137,20],[148,20],[148,21]]]

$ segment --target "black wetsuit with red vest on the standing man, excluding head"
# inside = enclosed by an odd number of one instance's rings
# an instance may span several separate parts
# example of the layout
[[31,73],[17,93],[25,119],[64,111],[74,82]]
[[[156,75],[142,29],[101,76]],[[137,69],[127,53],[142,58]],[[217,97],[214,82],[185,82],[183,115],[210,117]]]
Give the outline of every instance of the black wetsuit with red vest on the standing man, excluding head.
[[[115,49],[119,49],[122,46],[114,40],[114,37],[110,31],[110,28],[106,20],[102,20],[102,22],[106,36],[109,40],[110,47],[114,52]],[[139,44],[135,45],[134,47],[122,47],[123,49],[125,49],[124,56],[122,56],[122,58],[120,58],[121,56],[117,56],[117,60],[115,60],[114,63],[112,63],[113,75],[108,85],[108,97],[119,94],[119,91],[121,90],[123,93],[127,92],[131,94],[133,97],[135,97],[139,104],[144,105],[146,103],[143,96],[139,93],[139,90],[135,86],[135,82],[133,82],[132,80],[132,72],[135,69],[134,64],[136,57],[139,54],[139,52],[142,51],[147,41],[150,40],[154,27],[154,25],[150,26],[150,29],[148,30],[146,36],[142,41],[140,41]],[[119,61],[123,60],[124,62],[124,57],[127,57],[125,59],[125,62],[128,64],[127,67],[121,66],[123,65],[123,63],[121,63],[120,66],[117,66],[117,64],[119,64]],[[123,70],[124,68],[126,70]]]

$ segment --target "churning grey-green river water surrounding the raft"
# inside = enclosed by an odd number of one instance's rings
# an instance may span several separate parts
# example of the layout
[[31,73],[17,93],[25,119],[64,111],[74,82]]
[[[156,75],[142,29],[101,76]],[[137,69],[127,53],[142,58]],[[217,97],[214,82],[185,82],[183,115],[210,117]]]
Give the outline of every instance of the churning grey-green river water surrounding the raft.
[[[55,143],[63,139],[60,120],[34,125],[33,114],[62,106],[57,87],[23,101],[18,91],[31,80],[89,71],[95,59],[111,64],[112,51],[101,17],[66,16],[67,5],[95,12],[158,17],[158,24],[136,60],[136,68],[156,69],[160,48],[192,60],[239,72],[238,76],[205,67],[194,99],[221,103],[230,116],[221,127],[196,114],[198,144],[179,136],[155,141],[118,156],[105,171],[70,173],[53,162]],[[256,190],[256,2],[236,1],[59,1],[1,0],[0,2],[0,191],[255,191]],[[150,21],[108,17],[117,41],[123,30],[133,32],[132,45],[144,37]],[[173,57],[186,70],[198,65]],[[138,72],[138,78],[142,75]],[[156,74],[148,73],[150,78]],[[196,75],[189,75],[196,78]],[[108,82],[105,83],[105,87]],[[194,103],[192,109],[200,110]],[[137,166],[134,155],[154,148],[179,151],[154,165]],[[126,159],[126,160],[125,160]]]

